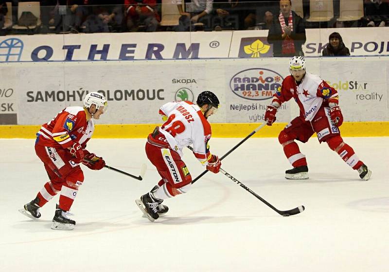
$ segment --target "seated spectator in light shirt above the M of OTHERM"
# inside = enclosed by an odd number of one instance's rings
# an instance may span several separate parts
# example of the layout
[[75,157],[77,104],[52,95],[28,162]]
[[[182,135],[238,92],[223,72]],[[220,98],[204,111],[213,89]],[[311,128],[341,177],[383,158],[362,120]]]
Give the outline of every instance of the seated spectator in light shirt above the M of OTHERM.
[[177,31],[189,31],[195,29],[195,24],[202,23],[204,30],[211,30],[211,12],[213,0],[192,0],[186,5],[186,12],[182,9],[182,0],[177,0],[177,7],[181,17]]

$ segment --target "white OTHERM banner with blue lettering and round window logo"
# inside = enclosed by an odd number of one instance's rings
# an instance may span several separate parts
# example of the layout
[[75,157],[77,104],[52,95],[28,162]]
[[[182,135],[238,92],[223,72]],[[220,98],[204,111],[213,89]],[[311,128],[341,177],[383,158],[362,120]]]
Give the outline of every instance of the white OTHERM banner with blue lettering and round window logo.
[[232,32],[1,36],[0,61],[218,58],[228,56],[231,36]]

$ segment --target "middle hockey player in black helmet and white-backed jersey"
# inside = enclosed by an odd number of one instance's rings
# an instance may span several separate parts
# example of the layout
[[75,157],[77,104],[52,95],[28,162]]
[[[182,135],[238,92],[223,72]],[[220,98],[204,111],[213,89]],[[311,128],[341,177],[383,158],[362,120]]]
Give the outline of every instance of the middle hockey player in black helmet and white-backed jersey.
[[159,114],[165,116],[166,122],[162,127],[156,127],[147,138],[147,158],[162,179],[151,192],[135,202],[150,221],[168,211],[168,207],[162,205],[164,199],[188,192],[192,184],[191,174],[181,159],[182,148],[193,144],[193,154],[200,163],[213,173],[219,172],[219,157],[209,151],[208,141],[212,133],[207,121],[218,109],[219,100],[211,91],[203,91],[196,103],[179,101],[163,105]]

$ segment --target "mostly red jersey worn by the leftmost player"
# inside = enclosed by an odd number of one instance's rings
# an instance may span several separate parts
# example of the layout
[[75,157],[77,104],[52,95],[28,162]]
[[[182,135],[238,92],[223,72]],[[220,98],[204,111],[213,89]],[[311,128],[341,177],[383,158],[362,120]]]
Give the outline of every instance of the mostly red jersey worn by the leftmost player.
[[37,145],[68,148],[79,143],[84,148],[92,137],[94,124],[87,119],[82,107],[68,107],[59,112],[49,123],[40,127]]

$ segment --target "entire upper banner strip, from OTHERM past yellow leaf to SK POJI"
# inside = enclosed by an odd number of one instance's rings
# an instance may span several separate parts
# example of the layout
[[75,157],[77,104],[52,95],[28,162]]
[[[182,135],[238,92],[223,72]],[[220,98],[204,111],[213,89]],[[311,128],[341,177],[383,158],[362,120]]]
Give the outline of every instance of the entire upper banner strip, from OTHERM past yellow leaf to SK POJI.
[[[306,29],[306,56],[320,56],[328,29]],[[389,55],[385,27],[336,28],[351,55]],[[44,38],[42,38],[44,37]],[[0,37],[0,62],[264,58],[273,56],[267,30],[96,33]]]

